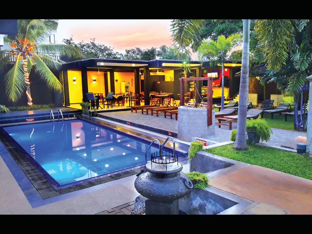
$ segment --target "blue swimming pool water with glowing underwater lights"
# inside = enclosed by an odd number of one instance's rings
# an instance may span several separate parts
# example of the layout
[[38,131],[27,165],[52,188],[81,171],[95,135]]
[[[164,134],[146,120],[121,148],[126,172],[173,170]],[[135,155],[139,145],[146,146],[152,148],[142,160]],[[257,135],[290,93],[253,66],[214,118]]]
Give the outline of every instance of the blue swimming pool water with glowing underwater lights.
[[148,144],[82,120],[3,129],[59,185],[146,163]]

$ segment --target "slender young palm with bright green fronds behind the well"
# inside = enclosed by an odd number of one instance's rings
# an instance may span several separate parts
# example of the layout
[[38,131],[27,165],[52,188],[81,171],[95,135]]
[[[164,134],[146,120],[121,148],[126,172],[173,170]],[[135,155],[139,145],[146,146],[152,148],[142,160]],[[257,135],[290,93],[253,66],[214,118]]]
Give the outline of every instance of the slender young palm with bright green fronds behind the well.
[[222,63],[222,95],[221,110],[224,109],[224,61],[227,53],[241,40],[239,33],[234,33],[229,37],[220,35],[217,41],[203,40],[198,48],[198,59],[200,61],[210,60],[214,63]]

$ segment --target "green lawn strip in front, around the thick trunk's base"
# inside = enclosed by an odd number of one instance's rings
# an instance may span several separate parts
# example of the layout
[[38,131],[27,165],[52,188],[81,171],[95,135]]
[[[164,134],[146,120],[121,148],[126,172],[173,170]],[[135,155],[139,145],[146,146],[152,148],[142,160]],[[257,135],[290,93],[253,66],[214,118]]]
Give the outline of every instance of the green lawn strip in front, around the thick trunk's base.
[[248,145],[248,150],[232,149],[233,144],[206,149],[208,153],[258,165],[312,180],[312,158],[279,149]]

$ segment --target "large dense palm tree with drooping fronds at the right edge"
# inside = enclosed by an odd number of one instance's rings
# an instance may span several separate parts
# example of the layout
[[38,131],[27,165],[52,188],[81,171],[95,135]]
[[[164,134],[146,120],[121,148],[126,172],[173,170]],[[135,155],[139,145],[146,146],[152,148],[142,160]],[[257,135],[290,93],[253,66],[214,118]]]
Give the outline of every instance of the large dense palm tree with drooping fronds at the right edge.
[[[312,72],[312,21],[301,20],[258,20],[256,33],[259,42],[255,58],[266,62],[268,74],[264,83],[275,82],[282,93],[294,95],[294,128],[304,125],[302,115],[302,92],[306,89],[306,76]],[[301,99],[301,100],[300,100]],[[298,106],[300,105],[300,120]]]

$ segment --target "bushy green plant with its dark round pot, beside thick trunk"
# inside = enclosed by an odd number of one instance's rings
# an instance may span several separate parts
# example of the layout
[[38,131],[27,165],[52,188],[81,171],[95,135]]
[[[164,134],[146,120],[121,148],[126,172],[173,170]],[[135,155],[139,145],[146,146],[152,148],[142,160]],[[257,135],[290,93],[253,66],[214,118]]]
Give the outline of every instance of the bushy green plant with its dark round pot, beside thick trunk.
[[248,119],[246,122],[246,132],[248,136],[248,141],[250,143],[259,143],[269,141],[272,133],[272,129],[266,120],[261,119]]

